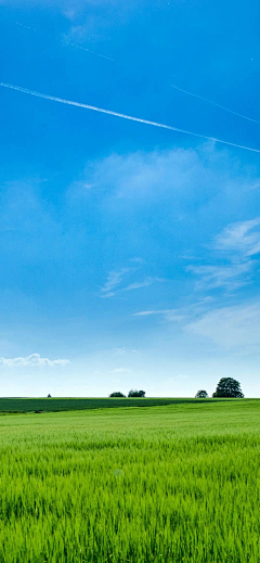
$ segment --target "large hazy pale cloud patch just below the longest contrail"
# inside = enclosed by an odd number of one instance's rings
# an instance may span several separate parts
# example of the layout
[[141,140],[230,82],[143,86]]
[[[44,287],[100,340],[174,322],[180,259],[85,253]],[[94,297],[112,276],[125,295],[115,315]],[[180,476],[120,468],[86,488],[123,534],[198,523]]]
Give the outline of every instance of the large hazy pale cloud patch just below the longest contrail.
[[[214,209],[219,194],[234,195],[251,189],[259,179],[251,170],[237,166],[229,154],[205,143],[198,151],[173,149],[165,151],[130,154],[112,154],[88,165],[86,181],[95,187],[109,187],[113,197],[128,200],[128,205],[136,205],[147,197],[174,195],[182,205],[178,213],[183,215],[183,202],[206,202],[213,200]],[[221,197],[222,200],[222,197]],[[118,202],[117,202],[118,204]],[[185,218],[185,214],[184,214]]]

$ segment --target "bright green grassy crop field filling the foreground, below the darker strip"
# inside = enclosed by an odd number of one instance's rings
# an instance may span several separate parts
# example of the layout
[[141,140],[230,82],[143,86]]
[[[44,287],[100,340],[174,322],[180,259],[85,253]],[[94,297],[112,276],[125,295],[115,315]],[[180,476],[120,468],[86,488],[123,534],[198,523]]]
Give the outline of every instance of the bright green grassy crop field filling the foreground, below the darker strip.
[[1,415],[0,561],[259,563],[259,422],[257,399]]

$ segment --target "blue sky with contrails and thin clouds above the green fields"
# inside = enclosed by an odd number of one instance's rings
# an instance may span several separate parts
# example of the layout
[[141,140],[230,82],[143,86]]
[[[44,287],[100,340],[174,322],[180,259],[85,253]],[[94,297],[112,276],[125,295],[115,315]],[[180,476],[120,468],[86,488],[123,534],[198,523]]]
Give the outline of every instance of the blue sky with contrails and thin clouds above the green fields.
[[0,396],[260,396],[259,15],[0,0]]

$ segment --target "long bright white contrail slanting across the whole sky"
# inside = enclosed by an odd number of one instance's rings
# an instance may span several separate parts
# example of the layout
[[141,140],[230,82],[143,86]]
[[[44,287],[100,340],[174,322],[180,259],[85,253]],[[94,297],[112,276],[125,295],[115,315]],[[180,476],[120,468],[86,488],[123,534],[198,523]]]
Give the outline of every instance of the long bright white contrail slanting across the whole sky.
[[79,102],[74,102],[72,100],[64,100],[63,98],[55,98],[54,95],[44,94],[41,92],[35,92],[34,90],[27,90],[27,88],[22,88],[21,86],[14,86],[11,84],[0,82],[0,86],[3,88],[10,88],[11,90],[17,90],[18,92],[24,92],[29,95],[36,95],[37,98],[43,98],[44,100],[51,100],[52,102],[58,102],[67,105],[76,105],[78,107],[83,107],[84,110],[92,110],[94,112],[100,112],[107,115],[114,115],[115,117],[121,117],[122,119],[129,119],[130,121],[138,121],[141,124],[153,125],[154,127],[161,127],[162,129],[170,129],[171,131],[177,131],[180,133],[191,135],[193,137],[198,137],[200,139],[206,139],[207,141],[214,141],[222,144],[227,144],[230,146],[235,146],[236,149],[245,149],[246,151],[251,151],[253,153],[260,153],[258,149],[251,149],[250,146],[244,146],[242,144],[231,143],[229,141],[223,141],[222,139],[214,139],[214,137],[207,137],[206,135],[195,133],[193,131],[187,131],[185,129],[179,129],[178,127],[172,127],[171,125],[164,125],[157,121],[150,121],[148,119],[141,119],[140,117],[133,117],[132,115],[120,114],[118,112],[113,112],[110,110],[104,110],[102,107],[96,107],[95,105],[82,104]]

